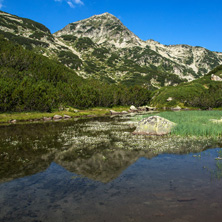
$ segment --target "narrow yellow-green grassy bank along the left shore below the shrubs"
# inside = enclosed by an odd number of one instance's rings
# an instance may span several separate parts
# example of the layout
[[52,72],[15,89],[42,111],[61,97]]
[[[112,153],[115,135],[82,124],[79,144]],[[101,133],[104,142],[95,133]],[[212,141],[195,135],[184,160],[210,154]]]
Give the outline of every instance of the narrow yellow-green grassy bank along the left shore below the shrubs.
[[96,107],[87,110],[77,110],[74,108],[69,108],[64,111],[54,110],[51,113],[47,112],[21,112],[21,113],[0,113],[0,125],[6,125],[12,123],[13,120],[16,122],[33,122],[33,121],[43,121],[43,118],[52,118],[54,115],[68,115],[71,118],[84,118],[84,117],[99,117],[106,116],[110,114],[110,110],[114,109],[117,112],[124,110],[129,110],[129,107]]

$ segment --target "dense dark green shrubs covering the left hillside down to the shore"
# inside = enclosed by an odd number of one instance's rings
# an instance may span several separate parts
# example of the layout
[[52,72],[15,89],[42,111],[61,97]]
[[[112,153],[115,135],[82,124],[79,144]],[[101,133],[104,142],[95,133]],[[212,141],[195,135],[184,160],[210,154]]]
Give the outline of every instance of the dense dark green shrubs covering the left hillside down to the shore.
[[147,104],[150,97],[150,91],[141,86],[84,80],[64,65],[0,36],[0,112],[139,106]]

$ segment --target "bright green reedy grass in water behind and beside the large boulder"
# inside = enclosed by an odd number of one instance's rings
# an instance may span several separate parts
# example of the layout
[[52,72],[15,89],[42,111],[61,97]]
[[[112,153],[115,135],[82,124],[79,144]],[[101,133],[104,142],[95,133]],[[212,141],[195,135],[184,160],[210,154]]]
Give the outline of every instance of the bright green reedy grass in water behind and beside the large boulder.
[[[180,111],[160,112],[158,115],[177,123],[172,135],[222,137],[222,123],[213,123],[210,119],[221,119],[222,111]],[[140,119],[151,116],[144,115]]]

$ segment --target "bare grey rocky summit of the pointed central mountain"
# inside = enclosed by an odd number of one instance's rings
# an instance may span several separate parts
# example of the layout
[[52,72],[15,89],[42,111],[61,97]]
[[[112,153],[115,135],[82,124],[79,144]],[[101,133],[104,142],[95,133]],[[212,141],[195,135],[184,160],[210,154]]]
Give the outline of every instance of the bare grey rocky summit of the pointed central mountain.
[[61,35],[89,37],[95,43],[108,42],[118,48],[140,46],[143,44],[143,41],[124,26],[117,17],[108,12],[71,23],[56,32],[55,35],[57,37]]

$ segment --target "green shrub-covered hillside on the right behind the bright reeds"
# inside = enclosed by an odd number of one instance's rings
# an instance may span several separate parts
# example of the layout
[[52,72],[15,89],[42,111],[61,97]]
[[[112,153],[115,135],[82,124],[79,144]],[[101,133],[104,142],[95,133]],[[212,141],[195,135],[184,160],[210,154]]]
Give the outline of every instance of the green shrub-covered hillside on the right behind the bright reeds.
[[[211,80],[211,74],[222,76],[222,66],[218,66],[206,76],[174,87],[163,87],[155,93],[152,104],[158,108],[198,107],[201,109],[222,107],[222,82]],[[167,99],[172,97],[172,101]]]

